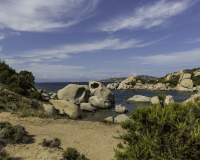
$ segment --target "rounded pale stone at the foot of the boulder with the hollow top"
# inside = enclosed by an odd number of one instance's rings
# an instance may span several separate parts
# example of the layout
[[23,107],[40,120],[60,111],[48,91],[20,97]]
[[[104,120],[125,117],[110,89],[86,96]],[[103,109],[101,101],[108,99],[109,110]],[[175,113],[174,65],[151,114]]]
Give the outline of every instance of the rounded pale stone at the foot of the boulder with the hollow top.
[[97,108],[110,108],[112,106],[109,100],[104,100],[102,97],[92,96],[89,98],[89,103]]

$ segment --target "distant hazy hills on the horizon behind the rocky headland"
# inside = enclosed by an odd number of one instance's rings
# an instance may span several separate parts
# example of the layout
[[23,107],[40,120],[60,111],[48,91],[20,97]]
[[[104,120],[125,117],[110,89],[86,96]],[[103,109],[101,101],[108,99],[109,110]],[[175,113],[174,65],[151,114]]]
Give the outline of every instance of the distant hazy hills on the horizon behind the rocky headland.
[[[156,80],[158,77],[152,77],[152,76],[147,76],[147,75],[139,75],[137,76],[138,78],[142,78],[144,80]],[[121,78],[107,78],[107,79],[102,79],[99,82],[122,82],[128,77],[121,77]]]

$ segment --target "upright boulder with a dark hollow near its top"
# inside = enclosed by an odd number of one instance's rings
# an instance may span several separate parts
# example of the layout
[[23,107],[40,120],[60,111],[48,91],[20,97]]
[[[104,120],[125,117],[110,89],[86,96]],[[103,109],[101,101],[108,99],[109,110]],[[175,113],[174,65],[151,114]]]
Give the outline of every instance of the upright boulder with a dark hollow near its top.
[[89,81],[89,87],[92,96],[102,97],[104,101],[109,100],[111,103],[115,102],[115,95],[102,83]]

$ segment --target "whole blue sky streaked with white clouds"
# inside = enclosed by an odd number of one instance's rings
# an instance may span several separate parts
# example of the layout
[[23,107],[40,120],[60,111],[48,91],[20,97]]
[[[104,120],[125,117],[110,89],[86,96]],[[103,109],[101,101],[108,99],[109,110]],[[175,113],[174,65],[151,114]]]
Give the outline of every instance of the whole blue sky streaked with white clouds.
[[36,82],[200,67],[200,0],[0,0],[0,60]]

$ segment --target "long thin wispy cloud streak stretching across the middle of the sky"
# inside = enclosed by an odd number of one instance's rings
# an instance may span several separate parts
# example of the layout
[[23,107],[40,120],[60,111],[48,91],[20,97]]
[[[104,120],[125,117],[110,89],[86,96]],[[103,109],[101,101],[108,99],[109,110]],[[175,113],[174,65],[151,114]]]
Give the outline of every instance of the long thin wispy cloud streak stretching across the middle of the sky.
[[153,45],[162,41],[168,37],[161,38],[159,40],[145,42],[144,40],[136,40],[131,39],[127,41],[123,41],[120,39],[105,39],[96,42],[88,42],[82,44],[66,44],[57,46],[50,49],[40,49],[40,50],[32,50],[25,51],[21,57],[33,58],[39,57],[40,59],[63,59],[70,58],[70,53],[81,53],[81,52],[95,52],[98,50],[120,50],[120,49],[128,49],[134,47],[145,47],[149,45]]

